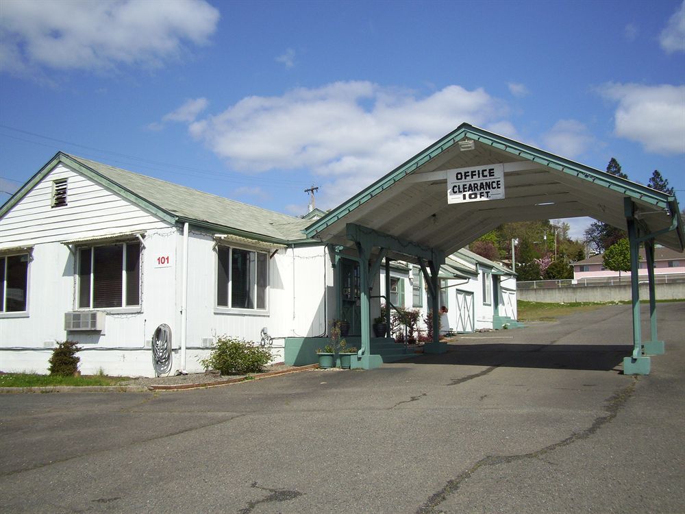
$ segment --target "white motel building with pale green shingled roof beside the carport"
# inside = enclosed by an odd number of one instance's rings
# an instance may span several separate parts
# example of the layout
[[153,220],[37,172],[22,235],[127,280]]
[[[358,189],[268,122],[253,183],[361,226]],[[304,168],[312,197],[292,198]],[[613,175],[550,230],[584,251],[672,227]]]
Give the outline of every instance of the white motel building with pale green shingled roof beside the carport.
[[[325,336],[338,303],[345,313],[310,223],[60,152],[0,208],[0,370],[45,373],[71,339],[84,374],[154,376],[162,324],[171,371],[201,371],[218,336],[259,341],[263,328],[284,360],[288,338]],[[417,268],[390,273],[391,302],[425,312]],[[515,319],[509,270],[460,251],[441,273],[456,332]]]

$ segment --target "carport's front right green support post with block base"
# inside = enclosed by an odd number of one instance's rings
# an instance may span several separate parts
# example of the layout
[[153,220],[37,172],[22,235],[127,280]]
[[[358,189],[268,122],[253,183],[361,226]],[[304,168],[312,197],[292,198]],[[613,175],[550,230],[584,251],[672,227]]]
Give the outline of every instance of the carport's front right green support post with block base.
[[630,198],[625,198],[625,219],[628,225],[628,241],[630,241],[630,289],[633,308],[633,354],[623,358],[623,374],[649,375],[649,357],[642,354],[640,328],[640,288],[638,282],[638,256],[640,242],[638,241],[637,226],[633,216],[633,204]]

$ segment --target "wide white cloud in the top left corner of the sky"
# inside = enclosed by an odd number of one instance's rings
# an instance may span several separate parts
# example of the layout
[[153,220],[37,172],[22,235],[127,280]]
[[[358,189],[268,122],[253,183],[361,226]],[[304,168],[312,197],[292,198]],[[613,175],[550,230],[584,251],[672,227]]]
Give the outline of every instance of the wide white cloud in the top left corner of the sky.
[[205,0],[3,0],[0,66],[17,75],[160,66],[186,42],[206,43],[218,21]]

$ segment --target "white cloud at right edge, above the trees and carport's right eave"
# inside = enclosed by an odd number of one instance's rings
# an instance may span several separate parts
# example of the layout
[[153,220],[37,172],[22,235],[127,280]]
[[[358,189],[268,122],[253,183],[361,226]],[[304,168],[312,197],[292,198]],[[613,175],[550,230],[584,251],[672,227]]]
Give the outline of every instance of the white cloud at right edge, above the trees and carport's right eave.
[[604,97],[619,103],[614,134],[656,154],[685,152],[685,86],[606,84]]

